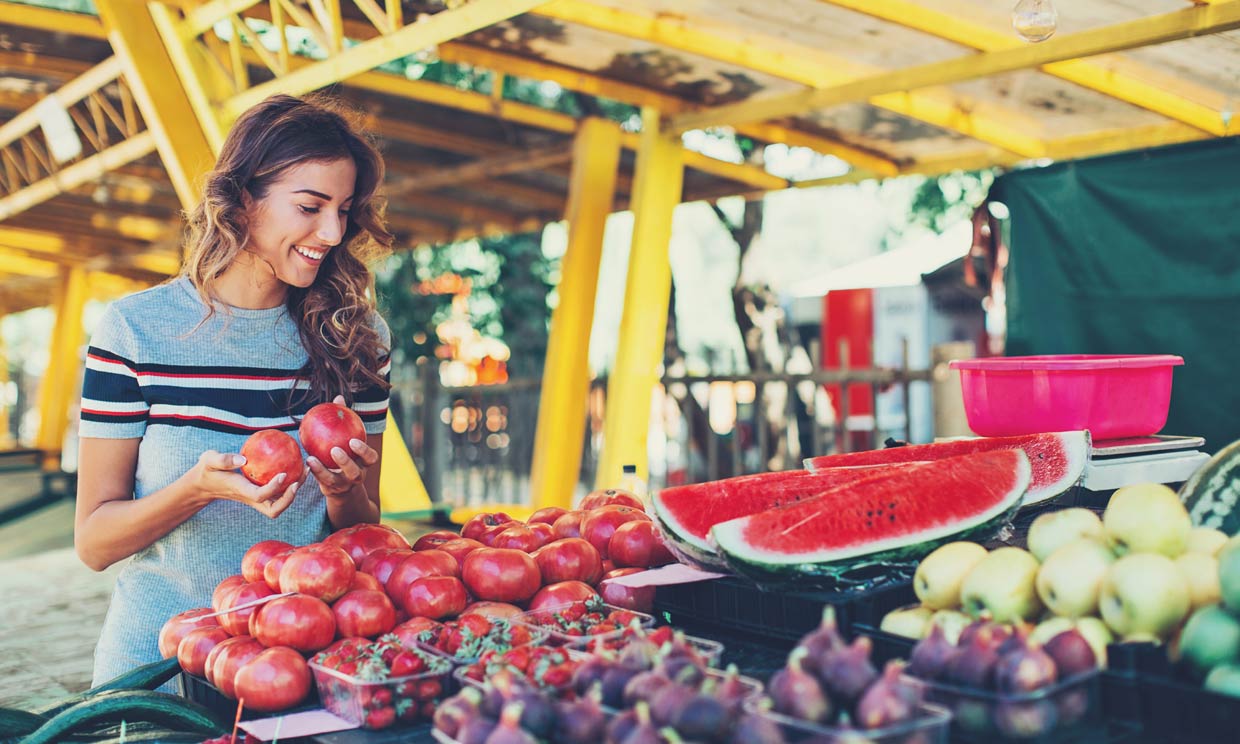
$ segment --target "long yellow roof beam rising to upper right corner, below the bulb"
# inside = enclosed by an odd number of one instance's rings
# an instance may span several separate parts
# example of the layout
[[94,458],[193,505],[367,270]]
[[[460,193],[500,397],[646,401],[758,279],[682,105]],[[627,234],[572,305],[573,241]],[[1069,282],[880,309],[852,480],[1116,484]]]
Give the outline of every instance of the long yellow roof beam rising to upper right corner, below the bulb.
[[668,128],[672,131],[686,131],[777,119],[842,103],[866,100],[887,93],[915,91],[1014,69],[1040,67],[1053,62],[1219,33],[1233,29],[1240,29],[1240,0],[1187,7],[1112,26],[1090,29],[1089,31],[1056,36],[1038,45],[908,67],[839,86],[720,105],[673,117]]

